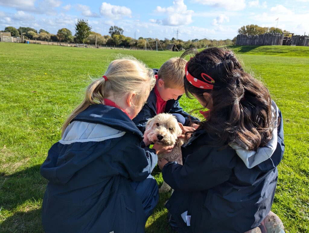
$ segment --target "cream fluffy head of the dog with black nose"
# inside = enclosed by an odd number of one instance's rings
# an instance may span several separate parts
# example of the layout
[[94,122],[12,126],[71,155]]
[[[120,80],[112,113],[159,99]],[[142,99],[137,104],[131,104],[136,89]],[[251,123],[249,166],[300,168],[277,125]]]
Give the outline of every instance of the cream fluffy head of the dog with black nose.
[[148,140],[163,145],[175,145],[182,133],[177,119],[168,113],[161,113],[148,120],[146,130]]

